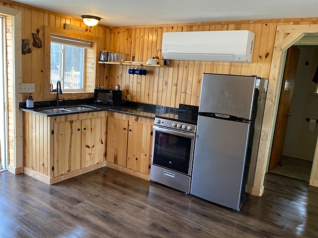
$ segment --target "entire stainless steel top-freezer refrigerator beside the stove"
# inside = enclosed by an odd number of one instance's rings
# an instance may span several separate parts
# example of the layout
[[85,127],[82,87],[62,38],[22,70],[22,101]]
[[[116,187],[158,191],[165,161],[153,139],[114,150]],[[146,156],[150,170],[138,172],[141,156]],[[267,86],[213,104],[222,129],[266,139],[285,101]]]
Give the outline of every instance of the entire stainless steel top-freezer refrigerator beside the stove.
[[203,74],[191,194],[240,209],[253,186],[267,82]]

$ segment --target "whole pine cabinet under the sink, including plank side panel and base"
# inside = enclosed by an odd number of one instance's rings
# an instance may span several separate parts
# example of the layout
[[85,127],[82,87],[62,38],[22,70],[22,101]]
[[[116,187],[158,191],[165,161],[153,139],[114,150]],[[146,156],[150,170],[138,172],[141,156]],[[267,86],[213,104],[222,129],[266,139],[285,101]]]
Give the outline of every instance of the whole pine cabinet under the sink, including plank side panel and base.
[[107,112],[23,120],[25,174],[52,184],[104,166]]

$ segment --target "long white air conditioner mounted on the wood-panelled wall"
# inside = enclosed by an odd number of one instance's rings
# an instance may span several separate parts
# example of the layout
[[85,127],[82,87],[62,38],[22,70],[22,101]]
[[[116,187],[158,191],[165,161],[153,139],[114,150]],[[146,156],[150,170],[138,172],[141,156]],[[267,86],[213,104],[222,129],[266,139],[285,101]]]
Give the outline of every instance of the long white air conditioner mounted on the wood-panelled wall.
[[247,30],[165,32],[162,56],[170,60],[251,62],[254,36]]

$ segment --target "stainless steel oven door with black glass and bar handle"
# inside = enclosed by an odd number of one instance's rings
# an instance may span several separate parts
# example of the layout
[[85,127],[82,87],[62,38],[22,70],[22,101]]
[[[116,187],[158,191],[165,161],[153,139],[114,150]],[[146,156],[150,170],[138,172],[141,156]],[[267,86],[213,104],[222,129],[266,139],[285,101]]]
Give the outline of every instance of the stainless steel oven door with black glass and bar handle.
[[152,164],[185,175],[191,175],[194,133],[153,126]]

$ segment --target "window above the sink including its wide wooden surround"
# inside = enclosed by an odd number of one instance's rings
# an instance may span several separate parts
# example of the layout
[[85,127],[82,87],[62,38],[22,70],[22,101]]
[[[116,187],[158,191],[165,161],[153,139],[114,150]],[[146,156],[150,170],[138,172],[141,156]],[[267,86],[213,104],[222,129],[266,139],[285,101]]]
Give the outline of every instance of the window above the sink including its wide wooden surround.
[[[43,99],[47,101],[56,99],[56,91],[52,89],[56,89],[56,82],[58,79],[61,80],[61,86],[64,84],[62,90],[63,97],[66,99],[94,97],[94,88],[97,86],[96,74],[100,72],[100,70],[97,71],[96,68],[99,69],[99,64],[97,64],[99,55],[97,56],[97,52],[100,52],[101,50],[101,38],[98,36],[87,35],[82,32],[70,31],[50,26],[44,26],[43,32]],[[53,43],[52,49],[51,43]],[[64,56],[62,54],[62,46],[64,47]],[[55,48],[61,48],[61,50],[56,51]],[[74,55],[72,56],[72,54],[67,53],[68,50],[66,48],[73,49],[69,50]],[[81,53],[81,50],[79,49],[82,49],[83,52]],[[56,54],[53,53],[53,51],[59,53],[58,57],[53,57],[53,55]],[[67,54],[69,54],[69,58],[66,56]],[[51,59],[51,55],[53,60]],[[74,61],[72,62],[71,59],[75,59],[77,64]],[[67,63],[74,65],[67,65]],[[79,65],[82,68],[80,68]],[[51,69],[62,70],[62,67],[64,68],[64,71],[58,71],[58,79],[54,79],[53,77],[51,79]],[[72,70],[72,67],[74,67],[74,71]],[[74,77],[77,77],[77,74],[81,74],[81,89],[75,88],[74,86],[73,89],[71,89],[69,84],[66,83],[67,78],[65,77],[64,72],[68,71],[71,72],[71,74],[74,73]]]

